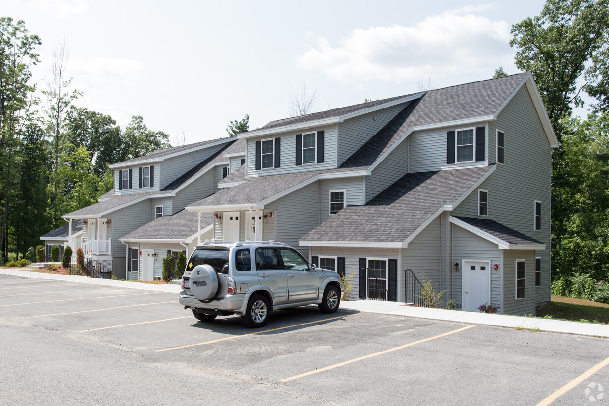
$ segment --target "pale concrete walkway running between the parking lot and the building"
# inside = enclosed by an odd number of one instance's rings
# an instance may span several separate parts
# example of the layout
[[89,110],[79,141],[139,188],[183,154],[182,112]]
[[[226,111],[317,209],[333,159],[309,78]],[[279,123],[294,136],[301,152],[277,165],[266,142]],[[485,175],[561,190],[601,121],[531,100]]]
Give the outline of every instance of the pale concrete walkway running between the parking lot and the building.
[[[152,285],[140,282],[113,281],[111,279],[88,278],[87,276],[54,275],[50,273],[29,272],[24,268],[0,269],[0,273],[23,276],[25,278],[51,279],[54,281],[71,281],[93,285],[126,287],[130,289],[157,290],[159,292],[178,293],[180,285],[164,284]],[[176,298],[177,300],[177,298]],[[379,313],[406,317],[426,318],[431,320],[456,321],[458,323],[482,324],[485,326],[532,328],[540,331],[557,332],[565,334],[590,335],[594,337],[609,338],[608,324],[579,323],[577,321],[562,321],[545,318],[507,316],[456,310],[427,309],[425,307],[405,306],[403,303],[385,302],[375,300],[343,301],[340,309],[355,310],[365,313]]]

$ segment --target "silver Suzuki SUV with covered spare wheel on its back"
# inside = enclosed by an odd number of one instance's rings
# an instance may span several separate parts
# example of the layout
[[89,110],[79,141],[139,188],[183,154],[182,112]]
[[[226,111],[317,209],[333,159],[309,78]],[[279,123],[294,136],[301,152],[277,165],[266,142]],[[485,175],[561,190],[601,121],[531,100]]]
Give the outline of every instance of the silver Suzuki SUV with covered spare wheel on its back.
[[246,326],[262,327],[278,309],[317,304],[334,313],[343,289],[336,271],[284,243],[205,242],[186,264],[180,304],[200,321],[238,314]]

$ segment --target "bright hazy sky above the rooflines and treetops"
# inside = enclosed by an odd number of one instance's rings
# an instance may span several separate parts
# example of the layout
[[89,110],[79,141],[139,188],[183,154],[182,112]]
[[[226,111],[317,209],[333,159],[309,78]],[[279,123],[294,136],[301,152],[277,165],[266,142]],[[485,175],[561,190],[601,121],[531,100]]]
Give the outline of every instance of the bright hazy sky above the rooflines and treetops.
[[78,107],[121,127],[144,117],[172,145],[289,116],[290,88],[313,111],[518,72],[512,24],[544,2],[0,0],[41,37],[40,85],[65,39]]

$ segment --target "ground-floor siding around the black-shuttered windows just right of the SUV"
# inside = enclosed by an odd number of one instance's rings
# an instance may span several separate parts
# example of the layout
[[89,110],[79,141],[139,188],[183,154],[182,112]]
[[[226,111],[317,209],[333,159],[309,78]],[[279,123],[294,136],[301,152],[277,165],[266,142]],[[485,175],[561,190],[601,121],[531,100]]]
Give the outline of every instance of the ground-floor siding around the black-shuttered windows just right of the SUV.
[[[350,280],[353,284],[350,298],[357,299],[359,297],[359,259],[360,258],[388,258],[398,260],[398,301],[403,301],[403,293],[400,295],[400,287],[404,284],[404,272],[400,268],[400,254],[396,248],[343,248],[343,247],[311,247],[311,256],[336,256],[345,258],[345,279]],[[308,253],[305,257],[311,261],[311,256]],[[401,287],[403,290],[403,286]]]

